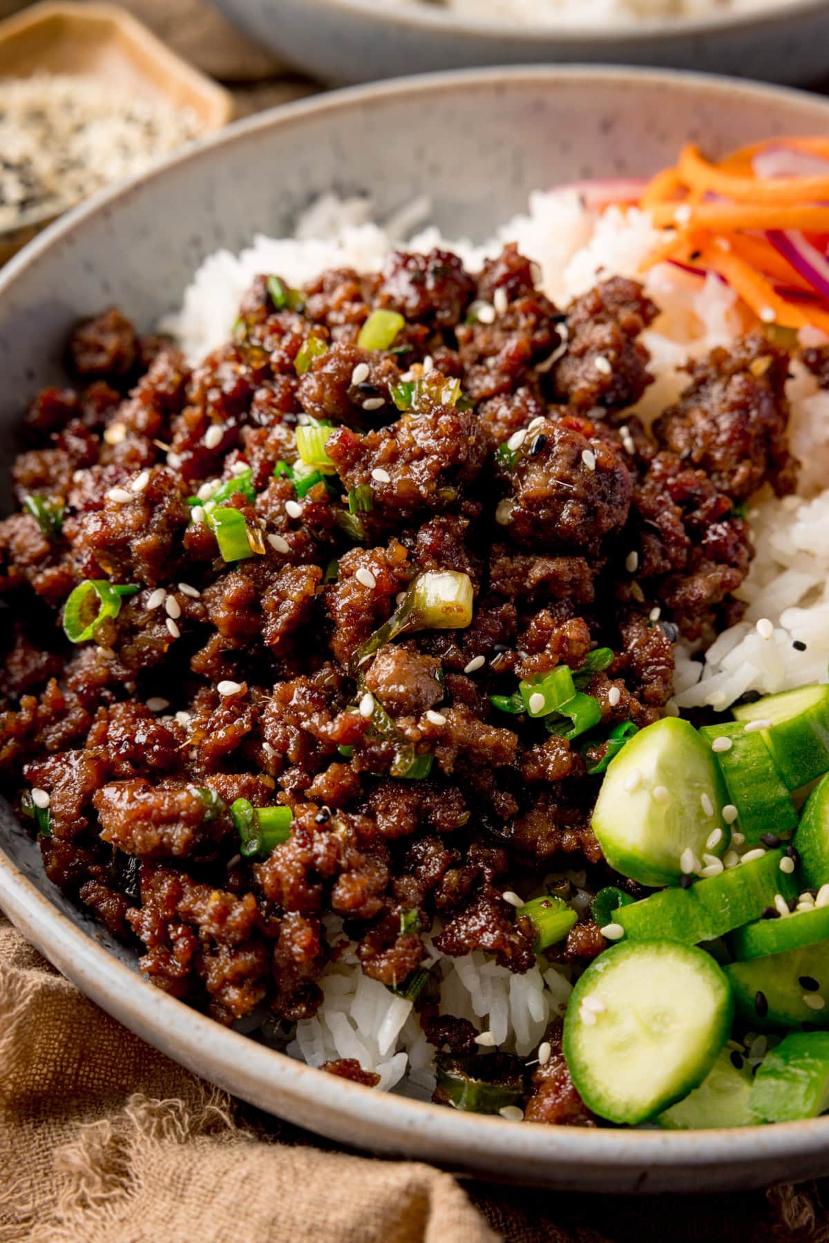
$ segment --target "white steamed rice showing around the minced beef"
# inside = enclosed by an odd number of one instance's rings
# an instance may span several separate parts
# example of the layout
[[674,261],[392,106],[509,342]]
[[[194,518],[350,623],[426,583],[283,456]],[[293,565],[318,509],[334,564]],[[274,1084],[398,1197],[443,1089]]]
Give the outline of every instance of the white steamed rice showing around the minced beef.
[[[278,272],[301,285],[327,267],[377,271],[404,239],[413,250],[436,245],[455,250],[472,270],[503,242],[516,241],[538,264],[544,291],[559,305],[600,276],[639,276],[655,244],[645,214],[610,209],[597,218],[572,193],[534,193],[527,214],[508,221],[482,246],[441,237],[434,227],[415,231],[428,211],[428,203],[416,203],[380,226],[372,221],[365,200],[321,199],[300,221],[295,237],[259,236],[240,255],[219,251],[206,259],[181,310],[165,327],[195,362],[227,339],[239,301],[257,273]],[[661,310],[643,338],[656,379],[636,413],[649,421],[681,393],[682,364],[727,344],[742,324],[736,296],[713,277],[702,281],[662,264],[646,275],[645,286]],[[748,518],[757,557],[740,590],[746,619],[720,634],[703,654],[677,645],[674,711],[701,705],[725,709],[747,691],[768,694],[829,681],[829,487],[823,486],[829,481],[829,393],[794,363],[788,395],[792,446],[804,464],[799,493],[777,500],[763,492],[752,498]],[[757,629],[762,619],[771,620],[771,635],[764,624]],[[574,886],[573,905],[583,909],[589,902],[584,874],[566,875]],[[431,935],[437,931],[434,927]],[[327,916],[326,932],[329,943],[342,941],[342,921]],[[429,936],[424,940],[430,953],[424,966],[440,981],[441,1013],[469,1018],[501,1049],[528,1055],[549,1019],[567,1007],[569,967],[539,960],[533,971],[516,976],[480,951],[446,958]],[[311,1065],[357,1058],[380,1075],[383,1089],[398,1085],[416,1095],[431,1093],[435,1050],[411,1002],[364,976],[353,946],[329,966],[321,987],[324,1001],[317,1016],[296,1029],[275,1028],[262,1016],[251,1016],[245,1029],[261,1023],[268,1042]]]

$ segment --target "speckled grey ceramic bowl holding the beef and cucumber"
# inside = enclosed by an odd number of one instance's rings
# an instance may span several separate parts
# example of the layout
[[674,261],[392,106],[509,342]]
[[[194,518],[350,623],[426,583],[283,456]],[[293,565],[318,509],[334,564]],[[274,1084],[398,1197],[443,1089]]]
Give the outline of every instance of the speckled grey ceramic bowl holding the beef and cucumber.
[[[323,96],[245,122],[51,226],[0,275],[0,460],[34,390],[58,380],[80,314],[119,302],[144,329],[209,251],[290,230],[326,190],[383,215],[428,194],[439,225],[483,237],[527,193],[645,174],[696,138],[717,154],[769,134],[829,134],[829,102],[705,77],[609,70],[456,73]],[[4,480],[4,486],[7,487]],[[707,1191],[829,1171],[829,1117],[742,1131],[529,1126],[383,1096],[291,1062],[159,992],[72,907],[0,805],[0,906],[93,1001],[262,1109],[387,1154],[589,1191]]]

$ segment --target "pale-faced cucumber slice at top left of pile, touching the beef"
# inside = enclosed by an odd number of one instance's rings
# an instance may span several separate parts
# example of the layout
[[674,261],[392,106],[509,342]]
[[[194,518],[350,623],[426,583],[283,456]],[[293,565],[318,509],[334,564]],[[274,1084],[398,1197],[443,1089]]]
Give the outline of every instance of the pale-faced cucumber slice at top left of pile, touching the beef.
[[[689,848],[725,854],[728,799],[708,743],[687,721],[646,726],[608,764],[593,813],[593,832],[611,868],[643,885],[675,885]],[[706,810],[710,809],[710,810]],[[708,849],[715,829],[721,840]]]

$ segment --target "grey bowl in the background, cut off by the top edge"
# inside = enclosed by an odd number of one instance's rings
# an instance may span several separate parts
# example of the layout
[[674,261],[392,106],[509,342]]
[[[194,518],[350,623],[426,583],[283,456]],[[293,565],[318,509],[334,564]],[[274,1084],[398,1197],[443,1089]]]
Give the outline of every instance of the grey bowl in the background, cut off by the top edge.
[[476,65],[666,65],[768,82],[829,75],[827,0],[635,26],[524,26],[382,0],[216,0],[229,17],[326,82],[372,82]]

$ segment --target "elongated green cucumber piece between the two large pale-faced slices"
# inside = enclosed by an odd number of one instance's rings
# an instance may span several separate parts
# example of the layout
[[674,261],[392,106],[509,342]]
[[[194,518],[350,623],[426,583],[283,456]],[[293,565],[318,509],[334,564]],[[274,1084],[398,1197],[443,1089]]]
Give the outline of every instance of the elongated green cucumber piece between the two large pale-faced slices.
[[774,896],[795,897],[799,889],[781,871],[782,850],[767,850],[762,859],[741,863],[718,876],[697,880],[690,889],[664,889],[630,906],[620,906],[614,922],[631,941],[667,937],[698,945],[758,920]]

